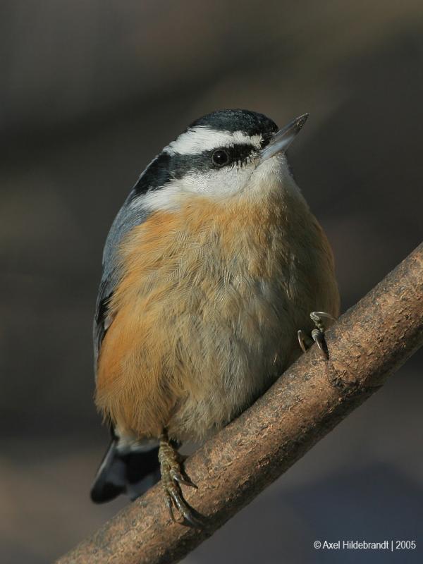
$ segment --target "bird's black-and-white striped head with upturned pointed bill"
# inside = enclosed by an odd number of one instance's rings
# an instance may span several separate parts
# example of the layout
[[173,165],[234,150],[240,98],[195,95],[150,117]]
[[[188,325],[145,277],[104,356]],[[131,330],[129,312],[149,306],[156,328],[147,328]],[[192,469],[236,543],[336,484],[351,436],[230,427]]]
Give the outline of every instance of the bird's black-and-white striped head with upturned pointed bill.
[[278,130],[247,110],[219,110],[193,122],[147,166],[133,198],[154,210],[178,207],[182,197],[224,200],[290,178],[285,152],[307,120]]

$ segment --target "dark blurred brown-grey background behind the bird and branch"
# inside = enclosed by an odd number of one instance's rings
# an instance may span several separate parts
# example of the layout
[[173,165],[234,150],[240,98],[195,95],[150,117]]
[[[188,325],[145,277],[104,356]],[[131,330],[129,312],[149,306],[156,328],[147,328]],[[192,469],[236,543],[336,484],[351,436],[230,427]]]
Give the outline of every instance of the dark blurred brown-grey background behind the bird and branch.
[[[0,14],[0,561],[42,564],[125,503],[88,492],[102,246],[138,174],[193,119],[284,125],[343,310],[422,240],[421,0],[4,0]],[[187,564],[422,562],[313,541],[422,539],[422,353]]]

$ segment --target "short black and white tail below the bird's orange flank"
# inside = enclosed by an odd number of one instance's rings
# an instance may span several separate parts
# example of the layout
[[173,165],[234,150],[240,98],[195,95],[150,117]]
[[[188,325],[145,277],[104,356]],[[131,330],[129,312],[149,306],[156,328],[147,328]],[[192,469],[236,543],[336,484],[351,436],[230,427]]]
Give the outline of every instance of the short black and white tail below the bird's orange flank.
[[119,494],[135,499],[144,494],[160,479],[158,451],[157,446],[119,450],[114,436],[97,470],[92,501],[104,503]]

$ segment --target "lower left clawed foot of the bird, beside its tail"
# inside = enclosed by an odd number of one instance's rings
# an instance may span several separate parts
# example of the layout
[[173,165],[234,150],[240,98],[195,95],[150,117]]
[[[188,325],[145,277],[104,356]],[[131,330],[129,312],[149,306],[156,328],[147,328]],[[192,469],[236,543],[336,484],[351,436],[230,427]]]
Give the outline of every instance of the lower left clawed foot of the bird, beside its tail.
[[[166,432],[161,434],[160,437],[159,462],[161,484],[164,489],[165,501],[171,515],[171,520],[197,529],[203,528],[204,522],[202,522],[200,516],[198,514],[196,515],[195,510],[185,501],[180,489],[180,484],[191,486],[192,488],[197,488],[197,486],[188,478],[185,472],[183,472],[180,455],[176,448],[172,446]],[[182,515],[183,521],[176,520],[173,515],[173,507],[176,507],[180,515]]]

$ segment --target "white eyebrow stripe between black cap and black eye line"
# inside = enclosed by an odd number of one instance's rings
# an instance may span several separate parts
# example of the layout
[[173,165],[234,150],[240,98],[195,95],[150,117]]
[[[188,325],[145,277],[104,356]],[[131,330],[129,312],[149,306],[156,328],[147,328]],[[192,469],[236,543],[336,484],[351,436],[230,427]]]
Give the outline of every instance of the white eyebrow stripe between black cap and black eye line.
[[163,150],[167,154],[200,154],[203,151],[247,143],[259,149],[262,135],[245,135],[242,131],[218,131],[197,125],[169,143]]

